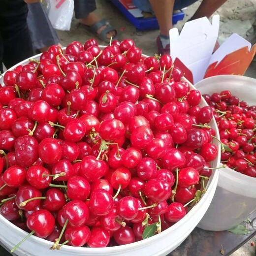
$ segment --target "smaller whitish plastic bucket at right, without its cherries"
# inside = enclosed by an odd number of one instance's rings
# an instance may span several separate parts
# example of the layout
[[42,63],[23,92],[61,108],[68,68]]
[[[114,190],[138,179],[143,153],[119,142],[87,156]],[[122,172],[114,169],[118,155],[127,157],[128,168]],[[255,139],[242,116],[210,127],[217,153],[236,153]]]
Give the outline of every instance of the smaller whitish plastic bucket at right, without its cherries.
[[[232,95],[256,104],[256,79],[237,75],[219,75],[195,84],[201,94],[221,93],[229,90]],[[198,227],[221,231],[244,221],[256,210],[256,178],[230,168],[220,170],[218,187],[206,214]]]

